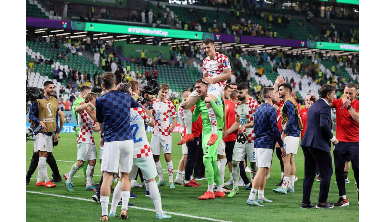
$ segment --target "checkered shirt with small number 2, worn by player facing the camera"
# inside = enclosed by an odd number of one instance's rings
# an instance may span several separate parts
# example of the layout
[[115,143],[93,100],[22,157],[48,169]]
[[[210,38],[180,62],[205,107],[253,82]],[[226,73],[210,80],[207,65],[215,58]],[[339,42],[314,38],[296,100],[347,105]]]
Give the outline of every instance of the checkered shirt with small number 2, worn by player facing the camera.
[[175,112],[174,104],[166,99],[164,102],[159,101],[159,97],[152,100],[152,117],[155,120],[154,129],[152,129],[152,135],[156,136],[171,136],[168,132],[170,128],[170,117],[177,116]]

